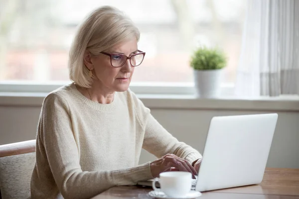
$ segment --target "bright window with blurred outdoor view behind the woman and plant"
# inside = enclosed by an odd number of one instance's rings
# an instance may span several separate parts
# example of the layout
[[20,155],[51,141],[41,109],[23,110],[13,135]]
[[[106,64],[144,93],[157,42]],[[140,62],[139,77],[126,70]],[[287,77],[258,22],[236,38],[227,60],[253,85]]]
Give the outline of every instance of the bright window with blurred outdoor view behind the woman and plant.
[[78,23],[113,5],[141,30],[146,57],[135,83],[192,83],[192,49],[218,45],[228,56],[223,83],[234,83],[246,0],[0,0],[0,81],[68,81],[68,49]]

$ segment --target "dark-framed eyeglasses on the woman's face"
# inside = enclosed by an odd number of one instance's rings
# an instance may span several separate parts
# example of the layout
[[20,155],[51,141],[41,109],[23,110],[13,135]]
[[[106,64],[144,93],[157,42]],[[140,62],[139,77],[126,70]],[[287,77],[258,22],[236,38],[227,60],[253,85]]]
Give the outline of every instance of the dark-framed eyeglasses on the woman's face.
[[145,55],[146,55],[145,52],[142,52],[140,50],[138,50],[138,53],[136,53],[130,57],[127,57],[126,55],[122,55],[122,54],[114,54],[114,53],[111,54],[111,53],[105,53],[105,52],[101,52],[101,53],[109,56],[111,65],[116,68],[124,66],[127,59],[130,59],[131,66],[134,66],[134,67],[139,66],[139,65],[141,65],[141,63],[144,60]]

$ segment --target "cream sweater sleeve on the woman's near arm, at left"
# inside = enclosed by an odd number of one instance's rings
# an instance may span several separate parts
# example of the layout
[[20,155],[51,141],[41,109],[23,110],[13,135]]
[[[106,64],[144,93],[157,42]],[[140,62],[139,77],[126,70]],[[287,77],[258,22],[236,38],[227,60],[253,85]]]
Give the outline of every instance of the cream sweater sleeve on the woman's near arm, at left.
[[152,178],[149,163],[117,171],[83,172],[70,110],[58,94],[52,93],[44,100],[38,136],[55,183],[65,199],[92,198],[113,186],[135,185]]

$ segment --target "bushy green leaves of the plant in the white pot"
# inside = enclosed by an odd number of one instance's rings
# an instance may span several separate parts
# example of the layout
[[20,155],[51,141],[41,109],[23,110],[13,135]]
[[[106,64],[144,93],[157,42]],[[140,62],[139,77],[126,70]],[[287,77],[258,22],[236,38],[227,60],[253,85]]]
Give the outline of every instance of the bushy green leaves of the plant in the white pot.
[[218,48],[200,47],[191,56],[190,66],[194,70],[216,70],[224,68],[226,63],[223,51]]

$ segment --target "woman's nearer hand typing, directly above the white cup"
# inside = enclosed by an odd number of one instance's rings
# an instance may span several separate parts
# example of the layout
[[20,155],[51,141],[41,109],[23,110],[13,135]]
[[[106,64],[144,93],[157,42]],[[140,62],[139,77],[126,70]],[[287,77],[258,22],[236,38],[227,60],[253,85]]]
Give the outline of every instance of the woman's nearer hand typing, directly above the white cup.
[[174,154],[167,154],[150,163],[151,175],[156,178],[159,174],[165,171],[186,171],[192,174],[192,177],[197,175],[197,172],[192,165],[184,159],[177,157]]

